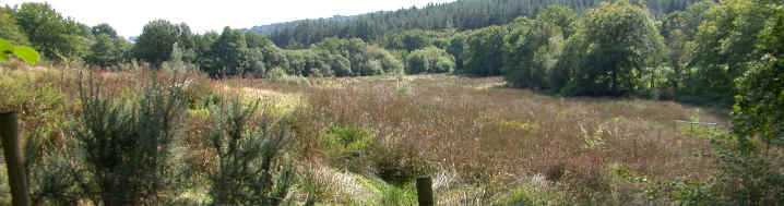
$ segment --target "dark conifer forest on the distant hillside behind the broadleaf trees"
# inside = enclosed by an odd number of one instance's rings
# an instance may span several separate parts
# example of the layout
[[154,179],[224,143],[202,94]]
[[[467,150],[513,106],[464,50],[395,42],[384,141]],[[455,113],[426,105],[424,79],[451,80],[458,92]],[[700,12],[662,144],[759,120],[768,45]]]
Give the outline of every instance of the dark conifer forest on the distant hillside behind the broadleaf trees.
[[[375,43],[391,32],[407,29],[475,29],[512,22],[518,16],[535,17],[550,5],[566,5],[578,13],[595,8],[604,0],[459,0],[425,8],[401,9],[359,15],[349,21],[321,19],[298,21],[275,29],[271,38],[283,48],[307,48],[326,37],[361,38]],[[634,0],[639,1],[639,0]],[[686,9],[700,0],[648,0],[645,5],[657,15]]]

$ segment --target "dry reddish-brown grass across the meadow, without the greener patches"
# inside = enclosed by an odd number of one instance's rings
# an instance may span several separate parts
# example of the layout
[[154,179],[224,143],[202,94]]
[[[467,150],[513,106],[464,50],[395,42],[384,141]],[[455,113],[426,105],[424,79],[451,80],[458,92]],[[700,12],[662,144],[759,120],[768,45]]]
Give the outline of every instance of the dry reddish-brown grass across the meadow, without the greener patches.
[[[35,75],[31,82],[51,84],[72,108],[79,70],[8,69],[4,75]],[[152,74],[95,72],[102,92],[132,96],[134,85]],[[175,76],[161,73],[161,80]],[[368,178],[407,178],[423,173],[438,178],[440,204],[492,204],[521,185],[561,191],[566,202],[602,205],[640,204],[642,185],[614,179],[611,168],[628,167],[653,180],[708,173],[706,138],[681,133],[673,120],[689,120],[698,108],[640,99],[562,98],[531,90],[503,88],[499,77],[449,75],[312,78],[311,85],[265,80],[210,80],[199,73],[189,94],[272,99],[282,121],[297,132],[292,155],[305,177],[337,186],[324,194],[361,191],[344,171],[322,162],[322,134],[330,125],[370,131],[373,145],[360,154],[357,171]],[[129,97],[130,97],[129,96]],[[283,99],[283,100],[281,100]],[[197,168],[211,167],[201,131],[209,122],[192,108],[186,144]],[[72,113],[79,111],[71,109]],[[701,112],[700,121],[727,125],[724,117]],[[543,182],[544,181],[544,182]],[[343,186],[341,186],[343,185]],[[329,189],[326,186],[326,189]],[[335,199],[329,197],[328,199]],[[324,199],[326,201],[326,199]]]

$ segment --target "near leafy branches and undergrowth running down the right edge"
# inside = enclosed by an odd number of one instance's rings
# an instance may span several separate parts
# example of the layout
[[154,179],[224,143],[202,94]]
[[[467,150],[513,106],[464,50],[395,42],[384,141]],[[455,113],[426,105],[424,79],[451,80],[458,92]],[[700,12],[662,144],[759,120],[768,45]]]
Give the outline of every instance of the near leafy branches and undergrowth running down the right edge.
[[[738,3],[738,2],[722,2]],[[711,155],[716,170],[706,180],[675,180],[657,183],[680,204],[693,205],[781,205],[784,203],[784,174],[781,173],[781,108],[784,107],[784,70],[782,70],[782,33],[784,10],[764,1],[753,1],[759,10],[774,15],[763,24],[756,49],[764,58],[747,65],[737,80],[738,96],[733,108],[733,133],[712,138]],[[751,4],[748,4],[751,5]],[[749,9],[749,8],[745,8]],[[702,28],[709,24],[703,24]],[[725,41],[730,44],[728,41]],[[743,46],[746,47],[746,46]],[[655,193],[654,193],[655,194]]]

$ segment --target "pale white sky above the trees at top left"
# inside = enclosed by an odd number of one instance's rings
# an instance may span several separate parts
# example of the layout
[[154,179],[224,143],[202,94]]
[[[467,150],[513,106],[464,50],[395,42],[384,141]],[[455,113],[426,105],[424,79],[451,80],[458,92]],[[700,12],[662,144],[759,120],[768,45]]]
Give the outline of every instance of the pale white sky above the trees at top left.
[[302,19],[392,11],[453,0],[0,0],[0,4],[49,2],[63,16],[94,26],[109,23],[124,36],[138,36],[156,19],[185,22],[195,33],[249,28]]

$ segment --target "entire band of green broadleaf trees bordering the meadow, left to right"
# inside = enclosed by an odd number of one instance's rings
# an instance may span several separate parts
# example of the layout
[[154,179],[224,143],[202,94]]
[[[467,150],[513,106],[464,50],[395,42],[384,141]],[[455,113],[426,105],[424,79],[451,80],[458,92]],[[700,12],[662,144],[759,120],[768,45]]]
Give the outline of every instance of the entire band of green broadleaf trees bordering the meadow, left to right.
[[[438,16],[439,11],[489,8],[482,13],[506,16],[504,12],[490,11],[543,8],[531,9],[536,13],[533,17],[516,16],[498,25],[494,24],[503,21],[477,24],[486,26],[477,29],[468,29],[474,26],[467,23],[433,23],[446,29],[405,29],[396,25],[396,31],[373,38],[314,38],[311,45],[296,50],[280,48],[275,34],[270,38],[228,27],[219,34],[193,34],[185,23],[164,20],[150,22],[131,44],[108,24],[90,27],[63,17],[46,3],[2,8],[0,37],[32,46],[51,61],[83,61],[102,68],[133,62],[147,62],[154,68],[198,65],[216,77],[265,77],[275,69],[299,76],[452,72],[503,75],[510,86],[566,96],[656,96],[728,106],[738,94],[735,81],[763,57],[758,37],[773,14],[764,3],[743,0],[514,4],[521,2],[466,0],[367,15],[405,22],[414,15],[403,13],[430,12]],[[543,3],[556,5],[544,8]],[[592,3],[598,7],[589,9]],[[438,19],[423,15],[411,20]],[[372,19],[360,15],[341,22],[360,20]],[[301,25],[308,24],[298,24]],[[307,32],[289,37],[297,35],[319,37]]]

